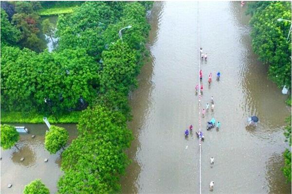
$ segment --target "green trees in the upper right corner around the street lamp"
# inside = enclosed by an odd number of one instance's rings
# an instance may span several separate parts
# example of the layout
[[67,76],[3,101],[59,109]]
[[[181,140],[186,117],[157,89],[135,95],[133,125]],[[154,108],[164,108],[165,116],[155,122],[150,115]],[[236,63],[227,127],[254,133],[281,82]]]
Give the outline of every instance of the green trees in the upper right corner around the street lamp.
[[291,88],[291,35],[287,36],[291,23],[278,22],[278,18],[291,19],[291,2],[261,3],[253,11],[253,49],[259,59],[269,64],[269,77],[279,86]]

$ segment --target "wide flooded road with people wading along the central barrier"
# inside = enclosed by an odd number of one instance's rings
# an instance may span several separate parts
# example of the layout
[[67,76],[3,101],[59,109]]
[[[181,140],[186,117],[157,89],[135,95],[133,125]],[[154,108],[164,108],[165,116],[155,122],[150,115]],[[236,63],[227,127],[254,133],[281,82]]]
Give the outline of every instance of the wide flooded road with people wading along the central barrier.
[[[202,193],[210,192],[212,180],[214,194],[291,193],[280,170],[291,110],[252,51],[245,8],[240,1],[200,2],[199,10],[200,46],[208,53],[201,104],[211,96],[215,102],[202,118]],[[135,140],[122,193],[199,193],[199,142],[183,135],[190,124],[198,129],[198,4],[155,2],[150,24],[151,58],[130,100]],[[218,71],[220,81],[208,87],[207,75]],[[260,119],[256,129],[245,127],[251,115]],[[220,131],[206,131],[212,117],[222,123]]]

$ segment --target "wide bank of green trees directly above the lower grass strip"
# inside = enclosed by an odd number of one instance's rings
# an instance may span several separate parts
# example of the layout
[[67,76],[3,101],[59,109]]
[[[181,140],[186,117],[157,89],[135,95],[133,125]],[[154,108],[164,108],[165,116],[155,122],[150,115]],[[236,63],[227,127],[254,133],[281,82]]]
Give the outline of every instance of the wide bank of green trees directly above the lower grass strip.
[[1,105],[9,111],[75,109],[82,97],[92,102],[98,84],[97,66],[84,49],[40,54],[30,49],[1,49]]

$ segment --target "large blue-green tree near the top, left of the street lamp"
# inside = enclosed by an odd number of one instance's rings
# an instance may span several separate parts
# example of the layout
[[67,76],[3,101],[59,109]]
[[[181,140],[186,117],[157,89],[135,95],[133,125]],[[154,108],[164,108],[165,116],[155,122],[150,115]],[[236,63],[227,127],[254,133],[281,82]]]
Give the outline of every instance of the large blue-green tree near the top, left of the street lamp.
[[58,47],[61,50],[83,48],[89,55],[98,58],[105,49],[102,33],[115,20],[115,13],[105,2],[85,2],[71,15],[59,17],[56,32]]

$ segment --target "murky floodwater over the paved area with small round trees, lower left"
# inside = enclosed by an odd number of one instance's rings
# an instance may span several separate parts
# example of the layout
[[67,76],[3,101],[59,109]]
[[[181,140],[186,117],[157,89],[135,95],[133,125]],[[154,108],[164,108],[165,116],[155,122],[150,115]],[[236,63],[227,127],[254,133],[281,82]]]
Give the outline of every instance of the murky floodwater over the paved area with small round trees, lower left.
[[[25,185],[40,178],[52,194],[57,192],[57,181],[62,175],[60,170],[61,152],[50,154],[44,147],[44,135],[48,129],[45,124],[10,124],[25,126],[29,134],[20,134],[17,143],[19,150],[12,147],[8,150],[1,148],[1,194],[22,194]],[[71,142],[77,136],[75,124],[57,125],[68,130]],[[36,137],[31,136],[35,134]],[[24,157],[24,161],[20,159]],[[44,162],[47,158],[48,162]],[[12,184],[8,188],[8,184]]]

